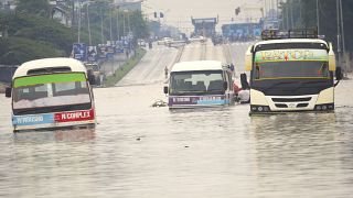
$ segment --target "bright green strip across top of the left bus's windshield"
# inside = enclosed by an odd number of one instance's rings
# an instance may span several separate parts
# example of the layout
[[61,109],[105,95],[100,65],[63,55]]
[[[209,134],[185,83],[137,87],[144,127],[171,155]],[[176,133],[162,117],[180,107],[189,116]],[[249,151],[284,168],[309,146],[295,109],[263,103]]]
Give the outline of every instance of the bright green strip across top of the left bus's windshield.
[[40,85],[40,84],[52,84],[52,82],[69,82],[69,81],[86,81],[84,73],[71,73],[71,74],[52,74],[42,76],[29,76],[14,79],[14,88]]

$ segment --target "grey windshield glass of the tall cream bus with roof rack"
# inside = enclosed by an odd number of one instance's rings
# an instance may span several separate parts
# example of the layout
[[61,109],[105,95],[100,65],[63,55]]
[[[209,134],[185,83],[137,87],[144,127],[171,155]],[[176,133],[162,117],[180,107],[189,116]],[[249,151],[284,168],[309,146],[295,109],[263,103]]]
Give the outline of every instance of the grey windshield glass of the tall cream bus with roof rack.
[[266,62],[255,64],[255,80],[279,78],[330,79],[328,62]]

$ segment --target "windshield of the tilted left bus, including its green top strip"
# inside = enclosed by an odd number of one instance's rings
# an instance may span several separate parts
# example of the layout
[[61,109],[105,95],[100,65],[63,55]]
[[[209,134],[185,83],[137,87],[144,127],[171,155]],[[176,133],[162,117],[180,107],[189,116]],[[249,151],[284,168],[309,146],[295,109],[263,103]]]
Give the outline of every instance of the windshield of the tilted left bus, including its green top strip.
[[30,76],[14,80],[14,110],[89,102],[89,87],[84,73]]

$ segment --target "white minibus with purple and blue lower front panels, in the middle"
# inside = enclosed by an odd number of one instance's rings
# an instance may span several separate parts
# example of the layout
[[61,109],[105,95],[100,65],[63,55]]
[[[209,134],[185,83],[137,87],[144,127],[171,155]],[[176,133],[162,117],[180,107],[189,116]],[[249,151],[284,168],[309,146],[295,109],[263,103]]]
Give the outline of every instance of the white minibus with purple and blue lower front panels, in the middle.
[[173,108],[234,105],[232,72],[216,61],[176,63],[171,70],[168,106]]

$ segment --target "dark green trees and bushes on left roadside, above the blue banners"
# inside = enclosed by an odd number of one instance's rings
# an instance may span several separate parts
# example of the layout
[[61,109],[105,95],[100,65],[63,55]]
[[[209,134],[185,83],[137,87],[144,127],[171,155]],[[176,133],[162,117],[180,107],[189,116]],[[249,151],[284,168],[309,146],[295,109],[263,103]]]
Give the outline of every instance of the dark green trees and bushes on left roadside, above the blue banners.
[[[115,16],[113,38],[127,34],[127,30],[131,30],[136,37],[148,36],[148,25],[140,11],[122,12],[111,9],[110,2],[99,0],[89,6],[92,45],[105,43],[110,38],[110,15]],[[20,65],[45,57],[68,57],[72,45],[78,37],[77,14],[74,14],[72,25],[66,26],[52,19],[52,8],[47,0],[18,0],[17,3],[15,11],[0,11],[0,65]],[[73,4],[67,3],[67,10],[74,10],[72,7]],[[88,20],[84,12],[86,8],[82,10],[79,37],[81,42],[88,44]]]

